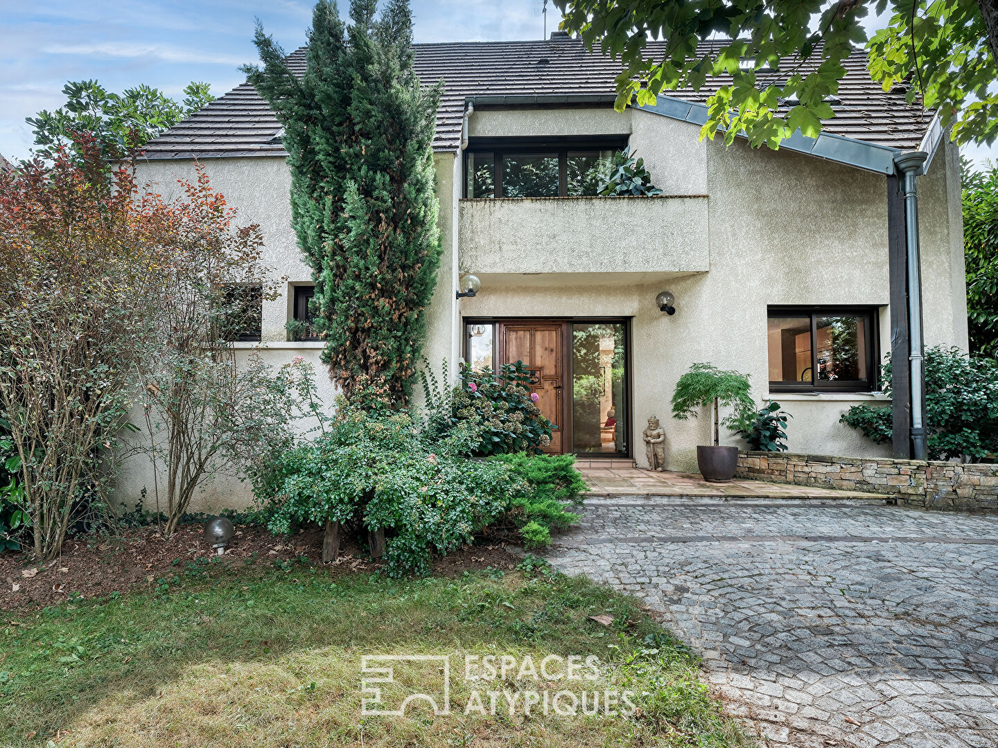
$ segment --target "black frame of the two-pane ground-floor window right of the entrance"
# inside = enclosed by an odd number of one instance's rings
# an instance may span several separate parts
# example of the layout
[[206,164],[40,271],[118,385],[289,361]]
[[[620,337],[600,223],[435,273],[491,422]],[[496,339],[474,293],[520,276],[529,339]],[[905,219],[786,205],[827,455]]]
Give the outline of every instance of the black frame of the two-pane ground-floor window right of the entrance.
[[[818,317],[863,317],[866,325],[866,350],[862,355],[866,364],[866,379],[820,380],[810,383],[796,383],[769,380],[769,392],[876,392],[880,373],[880,324],[879,307],[860,305],[839,306],[769,306],[766,308],[768,320],[785,317],[808,317],[810,321],[811,376],[818,370],[817,362],[817,319]],[[768,334],[768,333],[766,333]],[[766,345],[766,371],[768,371],[768,345]]]

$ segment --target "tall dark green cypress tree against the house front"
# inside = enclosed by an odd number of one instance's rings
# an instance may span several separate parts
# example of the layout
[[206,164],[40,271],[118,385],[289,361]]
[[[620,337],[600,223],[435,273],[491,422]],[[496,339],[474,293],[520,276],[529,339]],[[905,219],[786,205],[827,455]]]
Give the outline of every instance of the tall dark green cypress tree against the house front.
[[349,395],[381,384],[404,405],[440,262],[433,135],[441,85],[413,70],[407,0],[334,2],[312,14],[304,75],[257,23],[262,68],[244,71],[283,126],[291,223],[315,281],[323,361]]

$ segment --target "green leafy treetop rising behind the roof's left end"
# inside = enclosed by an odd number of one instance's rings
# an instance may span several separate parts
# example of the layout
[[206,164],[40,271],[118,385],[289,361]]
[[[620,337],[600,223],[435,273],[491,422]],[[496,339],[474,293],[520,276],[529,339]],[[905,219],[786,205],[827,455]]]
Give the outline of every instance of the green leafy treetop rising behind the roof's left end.
[[32,127],[35,153],[43,158],[54,158],[59,149],[73,152],[74,136],[88,133],[106,161],[134,159],[142,146],[213,101],[210,88],[192,81],[179,104],[145,85],[115,94],[97,81],[70,81],[63,87],[67,101],[62,107],[42,110],[25,122]]

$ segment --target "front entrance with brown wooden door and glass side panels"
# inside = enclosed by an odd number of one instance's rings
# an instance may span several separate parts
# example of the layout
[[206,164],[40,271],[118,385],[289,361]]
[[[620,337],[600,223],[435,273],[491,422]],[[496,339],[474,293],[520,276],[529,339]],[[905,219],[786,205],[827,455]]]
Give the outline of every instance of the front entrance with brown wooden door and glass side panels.
[[522,361],[553,424],[551,452],[630,454],[627,320],[466,320],[464,359],[475,370]]

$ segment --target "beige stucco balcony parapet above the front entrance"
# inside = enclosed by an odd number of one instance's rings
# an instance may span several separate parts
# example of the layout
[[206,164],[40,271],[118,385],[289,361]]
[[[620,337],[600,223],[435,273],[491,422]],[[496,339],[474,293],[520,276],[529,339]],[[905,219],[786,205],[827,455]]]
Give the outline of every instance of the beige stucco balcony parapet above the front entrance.
[[[707,195],[511,197],[459,203],[459,262],[478,274],[710,269]],[[613,273],[613,277],[606,276]]]

